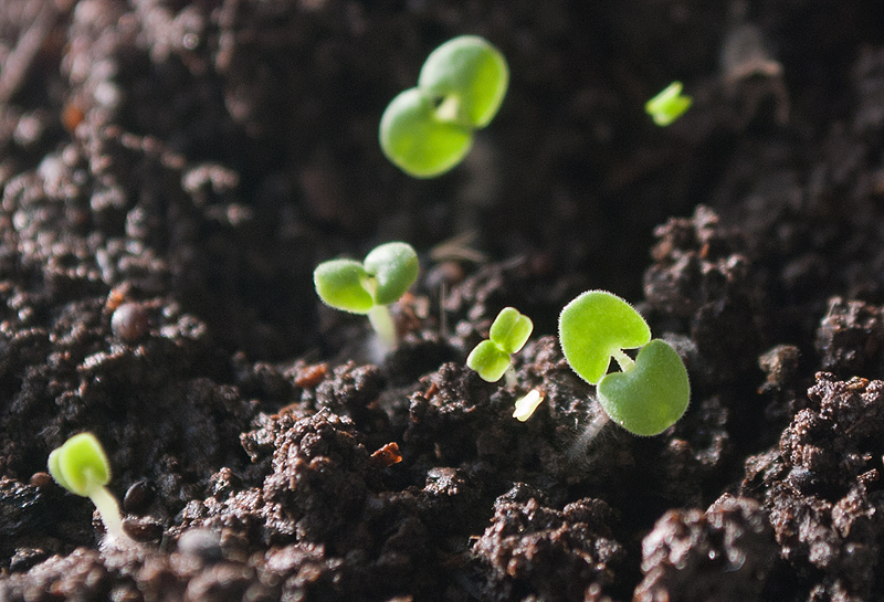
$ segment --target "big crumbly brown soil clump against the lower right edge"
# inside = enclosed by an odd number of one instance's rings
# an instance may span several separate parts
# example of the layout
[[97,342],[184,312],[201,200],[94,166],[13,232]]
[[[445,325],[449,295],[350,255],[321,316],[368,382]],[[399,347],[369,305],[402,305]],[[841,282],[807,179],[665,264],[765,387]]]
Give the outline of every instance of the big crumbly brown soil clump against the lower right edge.
[[818,373],[779,450],[747,463],[744,488],[764,500],[782,558],[825,575],[811,579],[810,599],[881,594],[883,392],[882,381]]

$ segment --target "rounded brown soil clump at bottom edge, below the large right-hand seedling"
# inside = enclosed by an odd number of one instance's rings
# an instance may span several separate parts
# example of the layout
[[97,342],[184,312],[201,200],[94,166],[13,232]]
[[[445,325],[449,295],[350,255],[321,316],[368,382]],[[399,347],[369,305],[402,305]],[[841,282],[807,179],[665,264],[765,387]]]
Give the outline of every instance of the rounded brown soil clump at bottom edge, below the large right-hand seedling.
[[708,510],[670,510],[642,541],[634,602],[761,600],[777,548],[761,505],[725,495]]

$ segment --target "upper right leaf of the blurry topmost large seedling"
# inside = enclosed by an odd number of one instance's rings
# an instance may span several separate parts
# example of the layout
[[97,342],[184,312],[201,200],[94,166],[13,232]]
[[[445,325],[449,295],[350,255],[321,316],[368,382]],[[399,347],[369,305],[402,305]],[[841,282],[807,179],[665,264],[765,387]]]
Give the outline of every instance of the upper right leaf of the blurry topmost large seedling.
[[478,35],[461,35],[435,49],[418,78],[418,87],[433,97],[453,97],[454,120],[471,128],[491,123],[508,85],[509,70],[504,55]]

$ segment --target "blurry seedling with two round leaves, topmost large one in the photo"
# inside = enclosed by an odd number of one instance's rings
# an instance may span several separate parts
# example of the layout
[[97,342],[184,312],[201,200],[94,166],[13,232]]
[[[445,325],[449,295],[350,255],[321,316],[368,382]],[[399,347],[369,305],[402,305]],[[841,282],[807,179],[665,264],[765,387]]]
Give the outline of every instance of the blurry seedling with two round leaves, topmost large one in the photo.
[[506,94],[503,54],[477,35],[461,35],[435,49],[418,86],[399,94],[380,119],[380,147],[415,178],[433,178],[460,163],[476,129],[487,126]]

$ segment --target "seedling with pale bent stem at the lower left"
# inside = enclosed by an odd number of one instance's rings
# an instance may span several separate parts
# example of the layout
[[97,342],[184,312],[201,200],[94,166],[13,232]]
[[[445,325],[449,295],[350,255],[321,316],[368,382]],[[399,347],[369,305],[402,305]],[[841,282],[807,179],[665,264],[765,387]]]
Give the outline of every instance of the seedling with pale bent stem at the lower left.
[[108,536],[129,539],[123,530],[117,500],[105,487],[110,480],[110,464],[95,435],[80,433],[54,450],[49,455],[49,474],[72,494],[95,504]]

